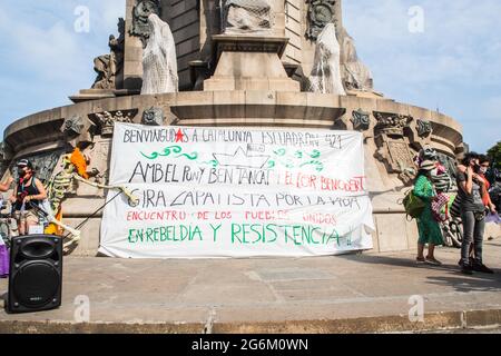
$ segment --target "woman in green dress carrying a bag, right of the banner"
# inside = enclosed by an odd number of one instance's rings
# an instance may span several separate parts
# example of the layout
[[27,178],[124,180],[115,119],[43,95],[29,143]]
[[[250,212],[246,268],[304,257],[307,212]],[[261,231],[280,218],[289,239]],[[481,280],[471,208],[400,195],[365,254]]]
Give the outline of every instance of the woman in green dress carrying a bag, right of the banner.
[[[431,171],[436,168],[435,162],[425,160],[421,164],[418,177],[414,184],[414,195],[420,197],[425,202],[425,208],[418,218],[418,230],[420,238],[418,240],[418,263],[429,263],[440,266],[435,256],[435,246],[443,245],[442,230],[439,222],[433,218],[431,202],[436,195],[433,188]],[[424,257],[424,246],[428,244],[428,256]]]

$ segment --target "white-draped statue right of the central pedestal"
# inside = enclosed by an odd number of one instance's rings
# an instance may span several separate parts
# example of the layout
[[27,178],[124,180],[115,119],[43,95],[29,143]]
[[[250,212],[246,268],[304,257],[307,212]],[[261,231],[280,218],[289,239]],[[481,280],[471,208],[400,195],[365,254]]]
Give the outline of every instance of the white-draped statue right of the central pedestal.
[[315,61],[310,76],[310,91],[345,96],[341,81],[341,48],[334,23],[328,23],[316,41]]

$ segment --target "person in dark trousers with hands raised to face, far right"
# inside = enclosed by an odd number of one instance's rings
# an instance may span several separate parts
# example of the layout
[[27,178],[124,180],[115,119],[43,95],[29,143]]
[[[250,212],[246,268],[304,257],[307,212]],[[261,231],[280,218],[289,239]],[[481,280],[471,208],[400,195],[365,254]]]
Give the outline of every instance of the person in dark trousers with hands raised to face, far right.
[[[483,231],[485,228],[485,206],[482,197],[485,180],[480,176],[479,155],[470,152],[462,161],[465,170],[459,167],[456,180],[461,200],[463,240],[461,244],[461,271],[471,275],[473,270],[492,274],[482,261]],[[470,246],[473,244],[474,258],[470,263]]]

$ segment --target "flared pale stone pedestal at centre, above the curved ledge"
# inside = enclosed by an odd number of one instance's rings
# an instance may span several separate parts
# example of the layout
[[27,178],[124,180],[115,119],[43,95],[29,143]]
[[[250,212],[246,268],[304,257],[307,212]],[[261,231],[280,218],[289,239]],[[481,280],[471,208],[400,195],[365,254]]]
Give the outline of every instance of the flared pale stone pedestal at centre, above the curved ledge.
[[301,91],[281,60],[287,38],[216,34],[213,42],[217,65],[214,76],[204,81],[205,91]]

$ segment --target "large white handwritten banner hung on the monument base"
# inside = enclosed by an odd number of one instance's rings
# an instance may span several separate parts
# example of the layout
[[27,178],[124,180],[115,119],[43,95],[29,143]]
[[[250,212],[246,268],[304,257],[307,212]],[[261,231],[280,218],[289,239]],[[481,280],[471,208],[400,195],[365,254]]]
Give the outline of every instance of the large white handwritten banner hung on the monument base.
[[116,123],[100,251],[122,258],[371,249],[362,135]]

